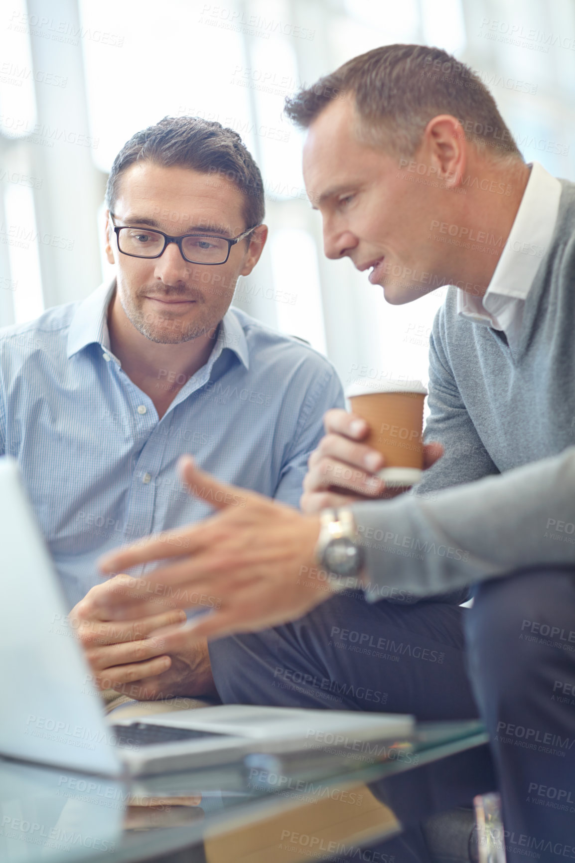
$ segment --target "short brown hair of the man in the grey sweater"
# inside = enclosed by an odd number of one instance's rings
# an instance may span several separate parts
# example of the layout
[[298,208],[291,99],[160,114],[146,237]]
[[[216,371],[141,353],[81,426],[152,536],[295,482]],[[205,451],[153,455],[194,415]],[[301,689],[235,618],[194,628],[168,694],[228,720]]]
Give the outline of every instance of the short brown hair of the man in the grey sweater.
[[286,100],[307,129],[335,98],[355,98],[357,135],[389,154],[412,156],[433,117],[450,114],[468,141],[494,156],[522,156],[495,99],[476,72],[440,48],[384,45],[360,54]]

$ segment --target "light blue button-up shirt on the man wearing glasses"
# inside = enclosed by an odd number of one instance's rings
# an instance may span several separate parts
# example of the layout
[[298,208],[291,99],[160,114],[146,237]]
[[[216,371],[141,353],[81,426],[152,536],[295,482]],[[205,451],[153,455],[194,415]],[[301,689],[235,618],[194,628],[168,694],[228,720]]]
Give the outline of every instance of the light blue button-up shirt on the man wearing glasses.
[[[183,488],[182,454],[295,507],[323,414],[344,406],[325,357],[230,309],[158,419],[111,353],[114,288],[0,331],[0,454],[20,464],[71,606],[101,583],[104,551],[212,512]],[[172,374],[161,369],[158,386]]]

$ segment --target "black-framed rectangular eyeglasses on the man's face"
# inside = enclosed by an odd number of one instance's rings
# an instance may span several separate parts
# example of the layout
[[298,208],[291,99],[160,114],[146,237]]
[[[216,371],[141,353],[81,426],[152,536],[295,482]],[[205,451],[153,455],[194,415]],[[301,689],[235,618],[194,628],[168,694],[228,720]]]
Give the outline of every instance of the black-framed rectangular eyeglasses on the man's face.
[[230,257],[231,247],[243,240],[245,236],[249,236],[252,230],[259,228],[256,224],[231,240],[227,236],[210,234],[168,236],[162,230],[117,225],[114,223],[115,218],[114,213],[110,213],[111,224],[117,236],[117,248],[123,255],[130,255],[132,258],[159,258],[164,254],[167,243],[176,243],[184,261],[191,264],[205,264],[208,267],[224,264]]

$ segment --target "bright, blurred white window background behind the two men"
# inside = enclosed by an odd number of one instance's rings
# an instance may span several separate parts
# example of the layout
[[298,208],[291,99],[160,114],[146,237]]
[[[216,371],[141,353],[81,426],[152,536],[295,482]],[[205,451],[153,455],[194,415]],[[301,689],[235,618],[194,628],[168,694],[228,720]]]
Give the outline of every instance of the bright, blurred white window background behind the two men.
[[387,306],[350,261],[325,259],[301,135],[281,116],[300,85],[393,42],[444,47],[471,65],[526,159],[575,179],[572,0],[4,2],[0,325],[98,286],[114,155],[137,129],[194,114],[236,129],[262,168],[269,244],[237,306],[312,343],[344,383],[382,371],[427,379],[445,291]]

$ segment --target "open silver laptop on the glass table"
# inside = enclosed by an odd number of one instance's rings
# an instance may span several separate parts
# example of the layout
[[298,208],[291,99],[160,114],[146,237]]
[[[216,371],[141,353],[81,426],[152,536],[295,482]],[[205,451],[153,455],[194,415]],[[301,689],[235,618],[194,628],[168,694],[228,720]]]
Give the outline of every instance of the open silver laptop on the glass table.
[[[57,494],[54,490],[54,494]],[[117,777],[237,762],[248,753],[351,752],[406,740],[414,717],[229,704],[114,721],[68,627],[66,600],[14,459],[0,458],[0,755]]]

